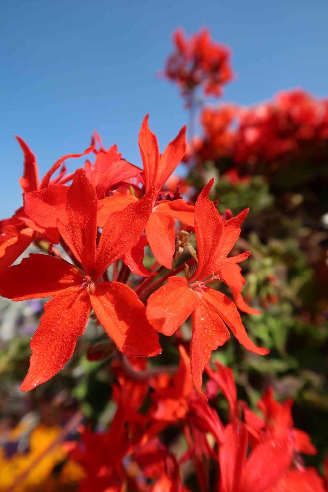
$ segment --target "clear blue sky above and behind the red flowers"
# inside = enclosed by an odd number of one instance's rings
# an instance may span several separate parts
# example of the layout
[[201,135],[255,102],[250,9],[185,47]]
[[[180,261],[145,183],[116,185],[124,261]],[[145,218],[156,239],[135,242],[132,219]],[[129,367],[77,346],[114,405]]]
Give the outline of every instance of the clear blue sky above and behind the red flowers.
[[95,128],[140,165],[147,112],[162,146],[175,136],[187,114],[156,72],[178,26],[206,26],[232,49],[237,77],[226,101],[252,104],[299,86],[328,95],[327,0],[2,0],[0,18],[1,218],[21,203],[16,134],[41,174],[87,147]]

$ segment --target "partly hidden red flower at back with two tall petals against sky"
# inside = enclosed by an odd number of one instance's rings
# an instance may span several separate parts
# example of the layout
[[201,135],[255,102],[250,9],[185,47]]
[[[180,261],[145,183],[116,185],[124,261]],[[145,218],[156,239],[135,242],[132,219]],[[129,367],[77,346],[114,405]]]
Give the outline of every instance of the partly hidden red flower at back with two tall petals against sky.
[[[144,165],[146,192],[152,186],[156,189],[153,210],[145,228],[146,239],[158,263],[166,268],[171,268],[175,251],[175,219],[193,227],[194,207],[188,205],[183,199],[157,201],[157,198],[163,184],[178,166],[185,153],[185,127],[180,130],[176,138],[160,155],[156,135],[150,131],[148,126],[147,115],[139,133],[139,148]],[[99,226],[102,227],[113,210],[122,210],[129,203],[136,203],[137,201],[136,196],[119,192],[112,197],[101,200],[98,214]],[[130,256],[134,256],[134,262],[131,262],[130,257],[125,257],[131,270],[138,275],[149,275],[149,272],[142,265],[144,246],[145,243],[140,245],[138,251],[134,250],[129,253]]]

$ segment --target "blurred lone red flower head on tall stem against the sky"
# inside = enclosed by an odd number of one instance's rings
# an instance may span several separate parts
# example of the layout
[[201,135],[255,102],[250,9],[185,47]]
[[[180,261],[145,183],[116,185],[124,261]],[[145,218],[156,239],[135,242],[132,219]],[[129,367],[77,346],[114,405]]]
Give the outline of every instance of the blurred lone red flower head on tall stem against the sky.
[[203,88],[205,96],[219,96],[222,86],[232,80],[230,51],[211,39],[207,29],[201,29],[186,39],[182,29],[173,34],[175,51],[166,61],[164,74],[176,82],[181,94],[191,103],[192,93]]

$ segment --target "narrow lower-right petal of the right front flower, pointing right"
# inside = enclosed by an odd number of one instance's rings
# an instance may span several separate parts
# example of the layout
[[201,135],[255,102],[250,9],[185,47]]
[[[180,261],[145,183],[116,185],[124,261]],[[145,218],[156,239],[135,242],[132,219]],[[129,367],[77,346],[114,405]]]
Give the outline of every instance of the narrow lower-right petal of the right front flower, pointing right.
[[235,304],[227,296],[214,289],[207,289],[202,296],[217,309],[220,318],[230,328],[241,345],[254,354],[266,355],[269,353],[267,348],[257,347],[248,337]]

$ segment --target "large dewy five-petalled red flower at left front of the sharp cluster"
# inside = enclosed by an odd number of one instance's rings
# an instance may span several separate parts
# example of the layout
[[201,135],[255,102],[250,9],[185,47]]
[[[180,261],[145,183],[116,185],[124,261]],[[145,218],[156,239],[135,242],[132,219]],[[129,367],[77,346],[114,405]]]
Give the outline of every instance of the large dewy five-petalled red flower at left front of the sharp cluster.
[[126,355],[160,352],[158,337],[145,307],[125,284],[104,282],[106,268],[132,247],[152,209],[153,190],[110,215],[96,245],[98,203],[93,185],[78,169],[67,192],[67,223],[58,229],[80,268],[58,258],[30,255],[0,275],[0,293],[19,301],[54,296],[45,305],[40,326],[31,340],[30,369],[21,389],[47,381],[71,358],[93,308],[107,334]]

